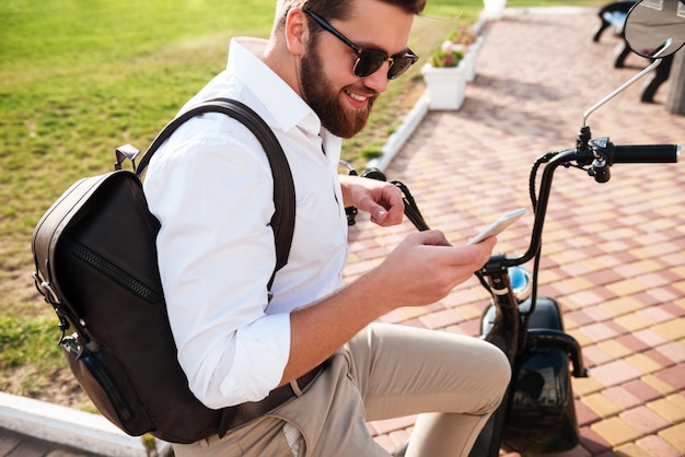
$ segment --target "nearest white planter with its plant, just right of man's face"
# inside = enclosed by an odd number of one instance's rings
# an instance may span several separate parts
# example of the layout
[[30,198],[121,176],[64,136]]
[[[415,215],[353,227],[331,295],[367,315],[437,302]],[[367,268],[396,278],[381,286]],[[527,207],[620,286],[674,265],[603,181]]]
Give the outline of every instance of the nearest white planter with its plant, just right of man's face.
[[421,68],[428,86],[430,109],[458,109],[464,103],[466,72],[464,55],[456,49],[433,52],[430,62]]

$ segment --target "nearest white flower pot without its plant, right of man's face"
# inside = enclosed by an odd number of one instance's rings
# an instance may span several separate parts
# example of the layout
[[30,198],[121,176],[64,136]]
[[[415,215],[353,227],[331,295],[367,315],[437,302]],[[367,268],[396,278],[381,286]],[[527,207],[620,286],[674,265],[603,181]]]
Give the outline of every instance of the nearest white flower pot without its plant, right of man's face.
[[457,67],[434,68],[426,63],[421,74],[428,86],[430,109],[458,109],[466,93],[466,67],[464,60]]

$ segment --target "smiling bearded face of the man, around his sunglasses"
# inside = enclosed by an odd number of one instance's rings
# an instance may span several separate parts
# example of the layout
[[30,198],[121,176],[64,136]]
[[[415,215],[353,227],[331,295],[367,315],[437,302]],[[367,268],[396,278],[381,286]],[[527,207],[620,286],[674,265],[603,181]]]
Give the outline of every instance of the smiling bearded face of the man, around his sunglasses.
[[[352,4],[349,20],[332,22],[339,32],[361,48],[388,55],[406,49],[411,14],[375,0]],[[365,126],[373,103],[387,87],[388,62],[373,74],[359,78],[353,73],[358,55],[327,31],[317,32],[300,61],[302,96],[325,128],[350,138]]]

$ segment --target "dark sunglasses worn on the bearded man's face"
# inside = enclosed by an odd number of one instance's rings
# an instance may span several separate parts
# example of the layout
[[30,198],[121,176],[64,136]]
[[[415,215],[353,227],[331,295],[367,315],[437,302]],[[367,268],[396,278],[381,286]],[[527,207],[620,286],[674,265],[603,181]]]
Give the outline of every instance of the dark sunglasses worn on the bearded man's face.
[[355,52],[357,52],[357,61],[355,62],[353,72],[358,78],[365,78],[373,73],[375,73],[379,68],[383,66],[383,63],[387,60],[390,61],[390,67],[387,69],[387,79],[394,80],[395,78],[404,74],[409,67],[411,67],[419,59],[417,55],[415,55],[411,49],[408,49],[404,52],[396,54],[394,56],[388,56],[386,52],[376,49],[362,49],[356,44],[353,44],[348,37],[342,35],[340,32],[334,28],[333,25],[328,24],[323,17],[314,14],[310,10],[303,10],[306,14],[310,15],[314,21],[318,23],[325,31],[334,34],[340,42],[345,43],[347,46],[352,48]]

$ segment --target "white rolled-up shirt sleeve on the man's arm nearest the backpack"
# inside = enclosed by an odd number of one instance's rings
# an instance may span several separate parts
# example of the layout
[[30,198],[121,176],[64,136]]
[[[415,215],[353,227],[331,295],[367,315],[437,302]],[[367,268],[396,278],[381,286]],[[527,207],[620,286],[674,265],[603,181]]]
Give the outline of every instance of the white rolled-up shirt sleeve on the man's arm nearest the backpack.
[[290,352],[289,314],[266,313],[276,263],[271,172],[257,140],[223,118],[186,122],[182,129],[195,131],[172,137],[144,181],[161,223],[160,273],[178,361],[190,390],[214,409],[266,397]]

